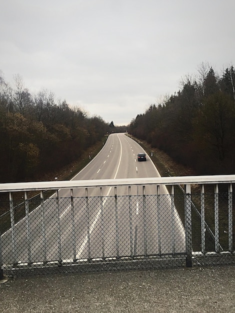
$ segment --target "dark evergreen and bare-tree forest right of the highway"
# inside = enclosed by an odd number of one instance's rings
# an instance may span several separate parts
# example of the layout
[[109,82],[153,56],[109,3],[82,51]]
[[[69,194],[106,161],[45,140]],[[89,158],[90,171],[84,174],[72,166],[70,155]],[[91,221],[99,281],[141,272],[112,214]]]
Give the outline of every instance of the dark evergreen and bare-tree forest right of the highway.
[[235,70],[201,63],[180,90],[131,120],[129,133],[198,174],[235,173]]

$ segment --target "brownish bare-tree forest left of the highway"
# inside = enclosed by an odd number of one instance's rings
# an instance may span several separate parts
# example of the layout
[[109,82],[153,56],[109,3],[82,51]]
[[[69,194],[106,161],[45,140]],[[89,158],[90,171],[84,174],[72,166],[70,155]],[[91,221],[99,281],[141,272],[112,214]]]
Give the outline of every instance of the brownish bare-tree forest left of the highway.
[[0,76],[0,182],[38,179],[79,159],[109,131],[99,116],[90,117],[52,92],[32,95],[19,75],[14,87]]

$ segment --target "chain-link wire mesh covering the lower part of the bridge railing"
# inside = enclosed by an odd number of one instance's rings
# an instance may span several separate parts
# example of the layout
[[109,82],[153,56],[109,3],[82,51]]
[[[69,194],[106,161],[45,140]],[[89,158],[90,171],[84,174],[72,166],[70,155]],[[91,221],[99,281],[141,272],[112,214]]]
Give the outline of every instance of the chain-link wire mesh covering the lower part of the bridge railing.
[[232,198],[25,194],[0,216],[1,267],[28,274],[234,263]]

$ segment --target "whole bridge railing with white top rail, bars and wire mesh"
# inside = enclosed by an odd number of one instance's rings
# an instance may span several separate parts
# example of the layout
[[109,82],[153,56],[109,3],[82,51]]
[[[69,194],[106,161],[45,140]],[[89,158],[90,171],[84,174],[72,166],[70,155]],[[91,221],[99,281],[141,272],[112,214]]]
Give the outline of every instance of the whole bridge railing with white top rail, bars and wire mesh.
[[234,262],[235,175],[0,184],[0,274]]

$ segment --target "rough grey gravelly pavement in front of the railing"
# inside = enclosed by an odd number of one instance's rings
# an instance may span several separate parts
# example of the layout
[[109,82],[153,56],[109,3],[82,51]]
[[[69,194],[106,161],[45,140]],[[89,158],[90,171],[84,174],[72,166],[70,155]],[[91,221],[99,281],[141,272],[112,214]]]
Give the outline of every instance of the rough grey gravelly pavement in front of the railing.
[[235,266],[17,277],[3,312],[235,312]]

